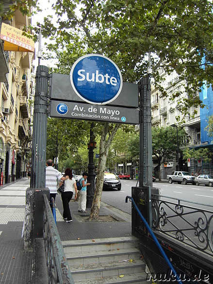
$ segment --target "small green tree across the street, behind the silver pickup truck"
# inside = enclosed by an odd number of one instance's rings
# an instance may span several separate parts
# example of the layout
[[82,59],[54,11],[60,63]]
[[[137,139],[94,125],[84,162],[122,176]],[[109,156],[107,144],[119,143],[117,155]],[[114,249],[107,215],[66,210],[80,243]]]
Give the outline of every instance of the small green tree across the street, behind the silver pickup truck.
[[[184,145],[185,131],[178,130],[179,147]],[[177,150],[177,131],[173,127],[155,127],[152,129],[152,155],[158,161],[158,177],[161,181],[160,167],[165,159],[171,158]]]

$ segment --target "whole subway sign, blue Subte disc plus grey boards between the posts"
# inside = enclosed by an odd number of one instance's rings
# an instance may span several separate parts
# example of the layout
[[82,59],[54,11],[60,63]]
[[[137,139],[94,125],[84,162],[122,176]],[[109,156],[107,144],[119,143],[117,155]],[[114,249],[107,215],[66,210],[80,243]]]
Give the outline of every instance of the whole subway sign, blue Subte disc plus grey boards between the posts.
[[70,75],[52,74],[49,116],[138,124],[137,84],[124,83],[109,58],[88,54],[79,58]]

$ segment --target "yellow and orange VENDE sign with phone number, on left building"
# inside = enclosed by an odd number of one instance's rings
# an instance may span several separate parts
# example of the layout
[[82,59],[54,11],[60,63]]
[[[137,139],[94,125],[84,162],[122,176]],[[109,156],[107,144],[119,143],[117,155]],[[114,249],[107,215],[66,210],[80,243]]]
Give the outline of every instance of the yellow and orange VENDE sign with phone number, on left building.
[[22,30],[10,25],[2,23],[0,38],[4,41],[4,50],[34,52],[33,39],[22,35]]

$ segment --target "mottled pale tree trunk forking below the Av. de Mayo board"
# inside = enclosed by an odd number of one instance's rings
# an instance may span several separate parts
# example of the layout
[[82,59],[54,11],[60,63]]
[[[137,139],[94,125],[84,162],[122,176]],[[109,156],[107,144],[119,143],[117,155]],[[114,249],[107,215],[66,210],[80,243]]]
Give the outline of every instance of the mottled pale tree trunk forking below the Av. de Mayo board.
[[[101,133],[100,148],[99,148],[98,175],[97,175],[97,181],[96,181],[96,189],[95,189],[94,198],[93,198],[93,204],[91,207],[90,216],[88,218],[89,221],[98,221],[106,159],[107,159],[108,151],[110,148],[110,143],[113,140],[119,128],[119,124],[116,124],[111,134],[109,134],[109,126],[110,126],[109,122],[104,123],[104,127]],[[108,134],[109,134],[109,137],[107,139]]]

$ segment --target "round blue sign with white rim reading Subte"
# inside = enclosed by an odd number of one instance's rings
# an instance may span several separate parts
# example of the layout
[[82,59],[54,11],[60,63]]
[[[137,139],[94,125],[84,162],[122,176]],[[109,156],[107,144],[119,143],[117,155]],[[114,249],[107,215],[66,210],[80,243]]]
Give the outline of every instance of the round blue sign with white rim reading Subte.
[[107,104],[115,100],[123,85],[116,64],[100,54],[79,58],[70,71],[70,81],[76,94],[92,104]]

